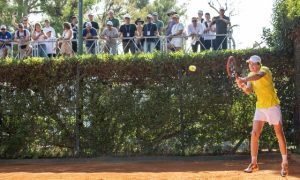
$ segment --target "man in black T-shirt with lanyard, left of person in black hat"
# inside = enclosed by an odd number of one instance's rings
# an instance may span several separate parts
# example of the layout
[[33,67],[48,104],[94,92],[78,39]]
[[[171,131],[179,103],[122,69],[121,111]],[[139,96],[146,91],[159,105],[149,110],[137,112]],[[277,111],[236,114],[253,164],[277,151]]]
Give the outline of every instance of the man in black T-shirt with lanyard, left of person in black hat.
[[134,54],[136,45],[134,43],[133,37],[136,35],[136,26],[134,24],[130,24],[130,19],[131,17],[129,14],[126,14],[124,16],[125,24],[121,25],[120,27],[120,37],[123,38],[122,43],[124,53],[128,53],[130,49],[130,52]]

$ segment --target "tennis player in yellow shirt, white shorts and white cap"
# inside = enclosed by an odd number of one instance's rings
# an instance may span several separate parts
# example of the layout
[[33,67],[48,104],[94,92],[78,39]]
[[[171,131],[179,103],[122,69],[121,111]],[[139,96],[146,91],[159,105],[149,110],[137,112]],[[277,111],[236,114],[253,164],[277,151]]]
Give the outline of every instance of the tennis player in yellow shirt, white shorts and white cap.
[[251,163],[244,170],[252,173],[259,170],[257,165],[258,140],[265,122],[274,126],[282,155],[281,176],[288,174],[288,160],[285,136],[282,130],[282,115],[280,101],[273,85],[272,73],[268,67],[262,66],[257,55],[247,60],[250,73],[247,77],[236,79],[236,83],[246,94],[254,92],[257,97],[256,110],[251,133]]

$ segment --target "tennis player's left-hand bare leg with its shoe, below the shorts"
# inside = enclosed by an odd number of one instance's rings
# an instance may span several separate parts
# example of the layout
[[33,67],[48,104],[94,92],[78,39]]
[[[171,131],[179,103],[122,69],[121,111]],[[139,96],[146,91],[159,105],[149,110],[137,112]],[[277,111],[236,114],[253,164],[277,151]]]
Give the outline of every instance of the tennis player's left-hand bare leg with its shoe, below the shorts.
[[264,127],[265,122],[260,120],[254,120],[251,132],[251,163],[244,170],[247,173],[251,173],[258,170],[257,165],[257,154],[258,154],[258,141],[261,131]]

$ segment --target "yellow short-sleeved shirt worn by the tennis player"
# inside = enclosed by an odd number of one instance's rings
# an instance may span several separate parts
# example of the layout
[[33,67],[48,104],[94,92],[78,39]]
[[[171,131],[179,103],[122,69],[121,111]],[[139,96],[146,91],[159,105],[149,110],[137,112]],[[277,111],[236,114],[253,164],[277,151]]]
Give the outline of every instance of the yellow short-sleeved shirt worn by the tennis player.
[[[280,101],[274,88],[271,71],[268,67],[262,66],[260,72],[266,74],[257,81],[251,81],[253,91],[257,98],[256,108],[270,108],[279,105]],[[248,77],[255,74],[254,72],[250,72]]]

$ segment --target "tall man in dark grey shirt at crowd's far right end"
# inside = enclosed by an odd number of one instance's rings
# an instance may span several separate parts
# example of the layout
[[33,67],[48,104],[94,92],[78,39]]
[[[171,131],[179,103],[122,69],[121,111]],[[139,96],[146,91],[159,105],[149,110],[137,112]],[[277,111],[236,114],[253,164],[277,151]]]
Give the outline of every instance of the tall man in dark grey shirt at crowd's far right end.
[[210,27],[216,24],[216,40],[214,43],[214,49],[227,49],[227,26],[230,25],[229,17],[225,16],[225,9],[220,8],[219,16],[214,17]]

